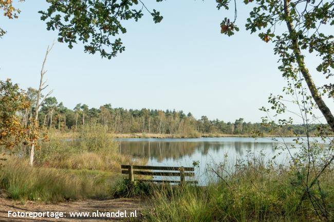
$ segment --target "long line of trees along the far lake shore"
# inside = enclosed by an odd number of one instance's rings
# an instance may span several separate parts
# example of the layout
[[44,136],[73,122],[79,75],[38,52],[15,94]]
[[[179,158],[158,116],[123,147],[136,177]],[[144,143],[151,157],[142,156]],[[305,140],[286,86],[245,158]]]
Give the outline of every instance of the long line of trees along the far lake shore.
[[[37,90],[28,88],[26,94],[30,106],[21,113],[23,126],[28,126],[35,112]],[[183,111],[158,109],[124,109],[113,108],[105,104],[100,108],[89,108],[86,104],[77,104],[73,109],[67,108],[56,97],[47,97],[43,100],[38,116],[38,124],[44,129],[60,131],[78,130],[87,124],[99,123],[108,132],[114,133],[155,133],[177,134],[185,136],[199,136],[198,134],[231,134],[251,135],[259,132],[271,134],[271,127],[261,123],[246,122],[238,118],[234,122],[210,120],[207,116],[196,119],[192,113]],[[310,131],[316,133],[317,125],[311,125]],[[282,135],[305,134],[300,125],[290,125],[281,128]],[[277,135],[277,132],[273,133]]]

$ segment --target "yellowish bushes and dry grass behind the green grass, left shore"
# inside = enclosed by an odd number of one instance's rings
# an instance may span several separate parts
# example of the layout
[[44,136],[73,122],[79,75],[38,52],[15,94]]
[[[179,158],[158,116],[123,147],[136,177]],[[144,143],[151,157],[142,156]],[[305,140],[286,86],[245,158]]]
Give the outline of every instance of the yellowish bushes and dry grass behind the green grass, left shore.
[[[59,132],[50,132],[49,141],[36,151],[35,165],[62,169],[109,170],[119,172],[121,164],[132,163],[131,156],[118,152],[113,135],[99,124],[86,125],[64,139]],[[145,164],[145,159],[136,164]]]

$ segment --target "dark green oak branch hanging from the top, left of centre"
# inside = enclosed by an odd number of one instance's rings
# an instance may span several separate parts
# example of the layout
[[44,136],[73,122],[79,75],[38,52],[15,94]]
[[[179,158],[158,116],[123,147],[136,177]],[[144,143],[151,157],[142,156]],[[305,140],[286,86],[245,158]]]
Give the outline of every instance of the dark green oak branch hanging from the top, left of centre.
[[[58,41],[68,44],[82,42],[84,51],[102,57],[112,58],[124,51],[122,40],[118,36],[126,33],[122,21],[138,21],[144,11],[148,12],[155,23],[162,20],[160,12],[149,10],[138,0],[46,0],[50,3],[47,11],[40,11],[41,19],[46,21],[47,30],[58,31]],[[157,0],[161,2],[163,0]]]

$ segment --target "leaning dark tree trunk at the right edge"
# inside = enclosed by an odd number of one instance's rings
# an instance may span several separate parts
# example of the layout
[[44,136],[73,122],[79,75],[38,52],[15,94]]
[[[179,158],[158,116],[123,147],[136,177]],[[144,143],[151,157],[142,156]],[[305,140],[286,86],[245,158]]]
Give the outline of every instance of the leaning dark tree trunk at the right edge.
[[334,116],[332,115],[330,109],[325,104],[324,100],[321,97],[321,94],[319,93],[319,90],[317,89],[316,85],[313,82],[312,76],[309,72],[309,70],[306,68],[305,62],[304,62],[304,56],[301,53],[299,43],[298,43],[298,34],[296,33],[294,26],[292,24],[292,19],[290,15],[290,2],[288,0],[284,0],[284,12],[287,16],[286,24],[289,30],[289,33],[292,37],[292,47],[294,56],[296,58],[296,62],[298,63],[298,66],[300,68],[301,73],[303,74],[303,77],[305,79],[305,82],[308,86],[308,89],[311,92],[311,95],[316,102],[318,108],[326,118],[326,121],[328,125],[330,126],[331,130],[334,132]]

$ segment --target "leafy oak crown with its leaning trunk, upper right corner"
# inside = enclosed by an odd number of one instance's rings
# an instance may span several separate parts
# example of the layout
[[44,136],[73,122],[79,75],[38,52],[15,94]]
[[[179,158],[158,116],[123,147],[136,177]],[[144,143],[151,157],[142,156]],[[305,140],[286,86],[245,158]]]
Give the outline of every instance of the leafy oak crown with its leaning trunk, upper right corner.
[[[229,9],[233,1],[217,0],[217,8]],[[233,22],[227,17],[221,22],[221,33],[229,36],[238,31],[236,27],[237,4],[234,1],[235,16]],[[305,82],[311,96],[305,95],[305,103],[317,105],[327,123],[334,131],[334,116],[325,104],[322,96],[332,97],[334,88],[332,84],[316,86],[314,74],[311,74],[304,58],[307,54],[321,57],[317,72],[325,78],[333,76],[334,43],[332,33],[327,33],[324,26],[334,25],[334,1],[316,0],[245,0],[244,3],[253,7],[246,22],[246,30],[258,33],[265,42],[274,43],[274,53],[280,56],[279,70],[288,81],[286,93],[301,89]],[[279,28],[280,27],[280,28]],[[300,74],[302,78],[300,77]],[[285,112],[280,102],[282,97],[270,96],[269,103],[279,112]],[[312,100],[313,99],[313,100]]]

